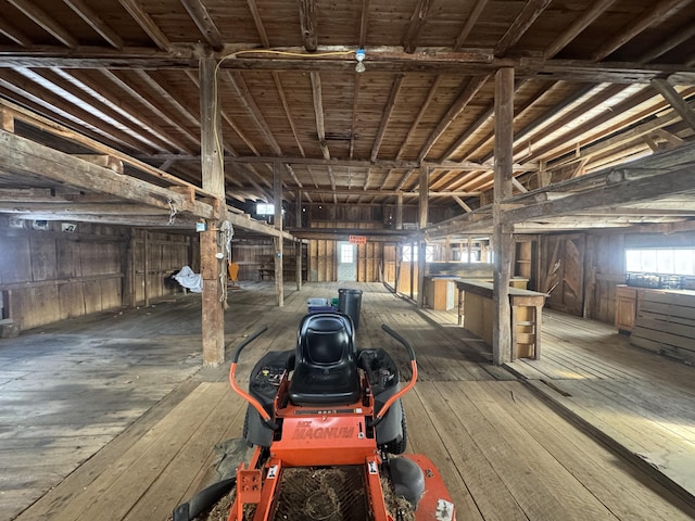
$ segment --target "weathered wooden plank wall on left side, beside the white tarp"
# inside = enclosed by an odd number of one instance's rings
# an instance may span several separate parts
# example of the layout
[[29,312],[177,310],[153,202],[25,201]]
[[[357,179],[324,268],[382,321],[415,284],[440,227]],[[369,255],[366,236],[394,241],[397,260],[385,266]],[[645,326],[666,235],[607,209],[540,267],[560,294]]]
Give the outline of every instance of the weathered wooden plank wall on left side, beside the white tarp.
[[66,232],[61,223],[23,223],[0,221],[3,315],[20,330],[180,291],[165,278],[191,263],[185,236],[149,232],[146,241],[143,230],[80,223]]

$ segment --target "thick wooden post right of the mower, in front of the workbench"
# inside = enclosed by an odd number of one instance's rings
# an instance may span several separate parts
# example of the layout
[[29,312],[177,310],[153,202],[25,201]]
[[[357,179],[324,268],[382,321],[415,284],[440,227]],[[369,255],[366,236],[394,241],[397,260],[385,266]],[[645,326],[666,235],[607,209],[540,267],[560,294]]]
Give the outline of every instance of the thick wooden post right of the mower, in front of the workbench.
[[511,359],[511,229],[502,223],[502,202],[511,196],[514,156],[514,68],[501,68],[495,75],[495,167],[493,212],[494,290],[492,304],[492,361],[502,365]]

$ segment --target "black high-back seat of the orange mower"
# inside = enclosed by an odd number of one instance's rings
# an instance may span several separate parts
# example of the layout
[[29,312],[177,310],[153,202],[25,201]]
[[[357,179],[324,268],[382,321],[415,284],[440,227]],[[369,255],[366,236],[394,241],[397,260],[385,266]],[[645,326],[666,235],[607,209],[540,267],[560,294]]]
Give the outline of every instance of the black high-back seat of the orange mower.
[[340,313],[306,315],[296,338],[290,402],[346,405],[357,402],[361,394],[352,319]]

